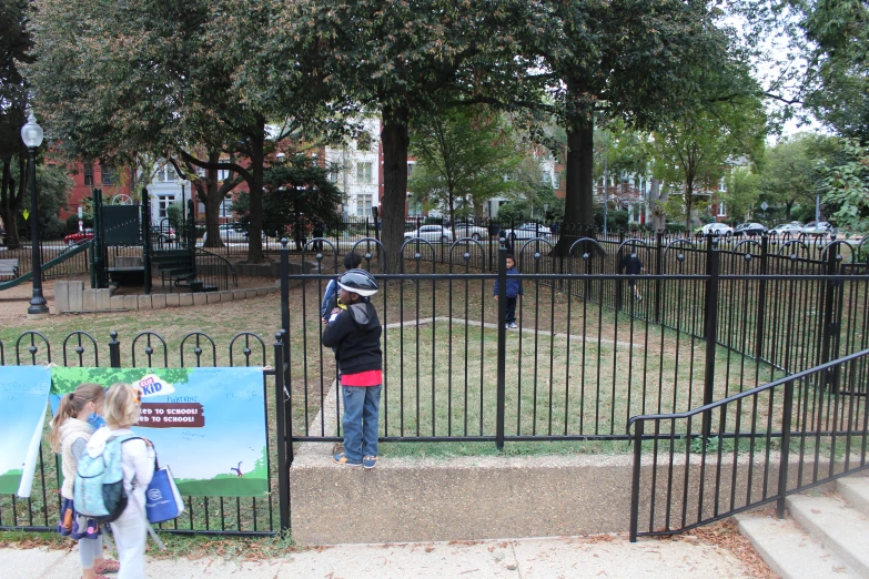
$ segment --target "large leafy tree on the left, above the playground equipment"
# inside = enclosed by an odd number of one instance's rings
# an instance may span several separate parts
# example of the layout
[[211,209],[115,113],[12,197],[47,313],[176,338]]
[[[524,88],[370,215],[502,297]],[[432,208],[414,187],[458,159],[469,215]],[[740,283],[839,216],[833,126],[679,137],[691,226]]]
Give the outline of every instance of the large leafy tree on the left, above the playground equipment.
[[[311,98],[316,75],[303,77],[296,65],[315,67],[316,50],[299,54],[294,44],[270,42],[282,26],[279,2],[37,4],[34,88],[70,156],[129,161],[152,152],[181,165],[233,171],[251,193],[247,261],[262,261],[267,160],[326,102]],[[219,202],[209,197],[222,200],[225,191],[208,175],[204,182],[200,197],[215,230],[209,237],[219,238]]]

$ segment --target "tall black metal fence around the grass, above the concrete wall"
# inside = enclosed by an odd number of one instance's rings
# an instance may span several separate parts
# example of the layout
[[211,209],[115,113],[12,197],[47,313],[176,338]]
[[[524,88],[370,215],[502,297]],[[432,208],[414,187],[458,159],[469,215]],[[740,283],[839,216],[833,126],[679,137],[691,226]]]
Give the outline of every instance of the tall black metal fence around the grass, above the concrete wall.
[[[322,243],[304,257],[316,273],[282,275],[293,440],[341,439],[335,363],[320,346],[338,248]],[[383,282],[383,440],[627,439],[633,416],[686,412],[869,346],[866,263],[841,242],[580,240],[565,257],[552,245],[514,247],[525,296],[503,337],[492,295],[503,271],[483,244],[408,240],[395,274],[378,273],[376,240],[347,247]]]

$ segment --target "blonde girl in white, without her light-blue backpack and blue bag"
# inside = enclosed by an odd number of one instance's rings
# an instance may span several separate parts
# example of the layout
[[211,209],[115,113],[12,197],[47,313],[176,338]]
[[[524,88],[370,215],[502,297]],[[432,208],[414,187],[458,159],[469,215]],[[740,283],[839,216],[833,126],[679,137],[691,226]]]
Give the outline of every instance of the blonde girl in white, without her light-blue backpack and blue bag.
[[[98,457],[105,443],[115,436],[135,436],[130,427],[139,421],[142,392],[130,384],[113,384],[105,395],[107,428],[100,428],[90,443],[88,454]],[[154,476],[154,449],[143,438],[132,438],[121,445],[123,487],[127,508],[112,521],[112,536],[121,561],[119,579],[144,579],[144,551],[148,532],[145,490]]]

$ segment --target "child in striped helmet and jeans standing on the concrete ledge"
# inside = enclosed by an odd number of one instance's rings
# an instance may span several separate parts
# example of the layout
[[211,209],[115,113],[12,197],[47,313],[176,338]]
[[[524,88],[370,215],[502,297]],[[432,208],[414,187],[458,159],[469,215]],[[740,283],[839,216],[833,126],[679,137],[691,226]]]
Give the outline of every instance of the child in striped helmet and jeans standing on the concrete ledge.
[[334,308],[323,331],[323,345],[335,348],[344,402],[344,451],[332,457],[344,466],[377,466],[377,433],[383,386],[381,322],[368,298],[377,281],[364,270],[337,280],[346,309]]

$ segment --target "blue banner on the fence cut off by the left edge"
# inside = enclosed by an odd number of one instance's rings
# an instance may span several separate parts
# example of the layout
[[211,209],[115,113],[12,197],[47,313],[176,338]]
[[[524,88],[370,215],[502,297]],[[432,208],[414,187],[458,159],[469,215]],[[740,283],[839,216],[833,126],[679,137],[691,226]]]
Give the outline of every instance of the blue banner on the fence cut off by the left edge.
[[0,495],[30,496],[50,387],[47,366],[0,366]]

